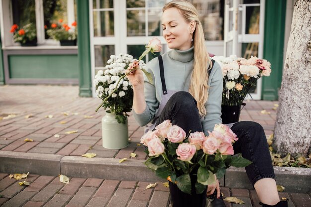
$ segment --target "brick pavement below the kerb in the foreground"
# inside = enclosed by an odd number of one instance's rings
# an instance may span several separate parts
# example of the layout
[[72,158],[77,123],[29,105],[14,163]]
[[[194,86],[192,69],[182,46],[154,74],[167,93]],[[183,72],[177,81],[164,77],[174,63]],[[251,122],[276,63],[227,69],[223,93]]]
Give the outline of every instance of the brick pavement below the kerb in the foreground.
[[[70,178],[69,184],[59,177],[29,174],[29,186],[0,173],[1,207],[171,207],[169,189],[161,182],[146,189],[148,182]],[[9,182],[8,182],[9,181]],[[221,188],[224,197],[235,196],[246,204],[261,207],[255,190]],[[311,195],[279,193],[289,199],[289,207],[311,207]],[[226,203],[226,207],[240,205]]]

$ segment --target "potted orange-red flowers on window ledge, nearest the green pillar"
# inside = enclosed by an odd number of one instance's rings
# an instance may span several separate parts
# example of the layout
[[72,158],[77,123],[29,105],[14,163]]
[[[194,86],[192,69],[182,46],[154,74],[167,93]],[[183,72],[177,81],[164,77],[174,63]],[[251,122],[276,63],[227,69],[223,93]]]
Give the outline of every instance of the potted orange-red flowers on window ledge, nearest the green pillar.
[[62,46],[76,45],[76,26],[76,22],[73,22],[70,27],[68,24],[63,24],[63,20],[60,19],[57,23],[51,24],[51,29],[47,30],[47,34],[50,38],[60,41]]

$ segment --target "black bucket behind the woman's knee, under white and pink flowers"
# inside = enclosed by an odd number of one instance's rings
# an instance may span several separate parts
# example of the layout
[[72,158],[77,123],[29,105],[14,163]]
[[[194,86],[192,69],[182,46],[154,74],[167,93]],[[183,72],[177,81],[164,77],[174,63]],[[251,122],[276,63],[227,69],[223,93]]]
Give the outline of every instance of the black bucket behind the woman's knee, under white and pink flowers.
[[[242,105],[246,105],[245,103],[242,103]],[[222,105],[222,122],[223,124],[229,124],[238,122],[240,118],[241,113],[241,105],[238,106],[226,106]]]

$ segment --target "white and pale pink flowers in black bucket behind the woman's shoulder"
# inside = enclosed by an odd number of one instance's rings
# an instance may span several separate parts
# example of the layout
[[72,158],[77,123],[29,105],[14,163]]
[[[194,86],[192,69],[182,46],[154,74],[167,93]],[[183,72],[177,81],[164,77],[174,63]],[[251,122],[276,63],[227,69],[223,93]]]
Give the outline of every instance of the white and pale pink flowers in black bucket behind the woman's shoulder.
[[222,105],[238,106],[249,93],[251,87],[262,76],[270,76],[271,64],[265,59],[251,56],[249,59],[213,56],[223,73]]

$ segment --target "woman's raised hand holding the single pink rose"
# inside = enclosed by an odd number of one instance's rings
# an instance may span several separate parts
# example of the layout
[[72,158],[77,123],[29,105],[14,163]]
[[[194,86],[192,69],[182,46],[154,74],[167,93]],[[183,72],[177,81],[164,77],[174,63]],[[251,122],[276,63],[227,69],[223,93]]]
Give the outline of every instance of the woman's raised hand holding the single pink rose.
[[144,85],[144,76],[143,72],[140,69],[135,69],[139,68],[139,62],[134,61],[133,63],[130,64],[130,66],[125,70],[125,73],[130,72],[126,77],[129,79],[129,81],[132,83],[133,88],[137,86],[142,86]]

